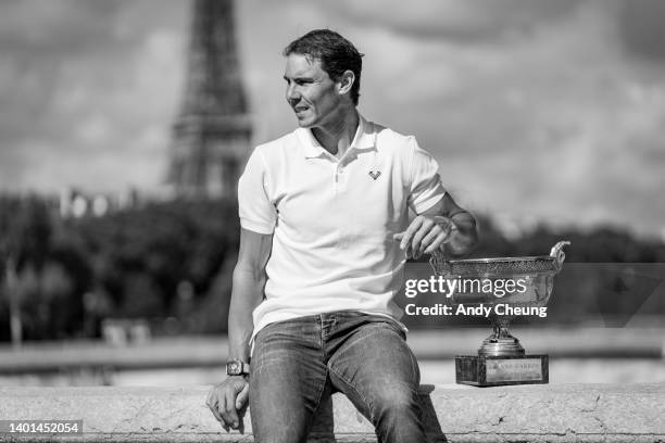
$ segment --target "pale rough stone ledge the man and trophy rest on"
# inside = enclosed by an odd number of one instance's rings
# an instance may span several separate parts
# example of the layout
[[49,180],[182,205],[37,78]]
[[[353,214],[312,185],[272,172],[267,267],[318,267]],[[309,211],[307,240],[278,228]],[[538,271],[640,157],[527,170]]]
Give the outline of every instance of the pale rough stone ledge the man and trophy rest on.
[[[0,419],[84,420],[83,435],[7,441],[251,442],[226,433],[205,406],[208,387],[0,388]],[[550,384],[476,389],[424,385],[428,433],[438,442],[665,442],[665,384]],[[373,427],[334,395],[338,442],[374,442]],[[315,441],[326,441],[325,429]],[[329,427],[327,428],[329,429]],[[327,439],[329,440],[329,439]],[[314,441],[314,440],[313,440]]]

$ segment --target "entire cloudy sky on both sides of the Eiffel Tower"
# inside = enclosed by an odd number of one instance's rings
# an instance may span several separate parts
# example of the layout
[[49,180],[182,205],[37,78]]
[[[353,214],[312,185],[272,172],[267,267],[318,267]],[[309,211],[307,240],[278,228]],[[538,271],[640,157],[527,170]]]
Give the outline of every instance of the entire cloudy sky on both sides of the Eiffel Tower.
[[[293,128],[281,48],[366,55],[360,110],[502,218],[665,237],[665,1],[238,1],[256,143]],[[189,3],[0,0],[0,191],[163,182]]]

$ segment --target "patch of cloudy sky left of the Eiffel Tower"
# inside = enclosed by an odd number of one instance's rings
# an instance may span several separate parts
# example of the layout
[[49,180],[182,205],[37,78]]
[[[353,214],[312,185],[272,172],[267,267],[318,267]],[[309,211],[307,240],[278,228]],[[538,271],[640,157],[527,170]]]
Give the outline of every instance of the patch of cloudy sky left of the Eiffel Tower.
[[[0,186],[154,186],[181,88],[186,7],[3,3]],[[171,12],[168,12],[171,10]],[[8,17],[11,17],[8,18]],[[163,136],[143,137],[146,128]],[[159,162],[146,153],[161,152]],[[140,165],[136,167],[135,165]],[[5,173],[11,170],[12,173]],[[122,173],[120,173],[122,172]],[[120,173],[120,174],[118,174]]]

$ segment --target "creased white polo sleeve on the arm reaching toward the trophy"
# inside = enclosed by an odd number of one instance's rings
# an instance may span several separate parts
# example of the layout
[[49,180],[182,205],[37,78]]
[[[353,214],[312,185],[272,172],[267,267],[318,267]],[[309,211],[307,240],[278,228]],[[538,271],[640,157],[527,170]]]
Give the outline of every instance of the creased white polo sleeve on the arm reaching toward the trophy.
[[421,147],[415,137],[410,138],[411,188],[409,207],[416,214],[422,214],[439,202],[446,194],[446,189],[439,177],[439,164],[431,154]]

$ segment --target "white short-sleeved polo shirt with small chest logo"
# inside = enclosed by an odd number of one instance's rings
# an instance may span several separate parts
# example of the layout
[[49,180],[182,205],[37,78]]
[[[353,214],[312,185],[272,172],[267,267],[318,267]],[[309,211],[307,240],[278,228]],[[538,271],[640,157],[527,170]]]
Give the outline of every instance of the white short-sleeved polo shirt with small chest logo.
[[254,336],[332,311],[399,320],[392,299],[405,254],[392,236],[406,229],[409,207],[422,213],[444,193],[437,162],[413,136],[362,116],[342,159],[304,128],[256,147],[238,185],[242,228],[273,235]]

